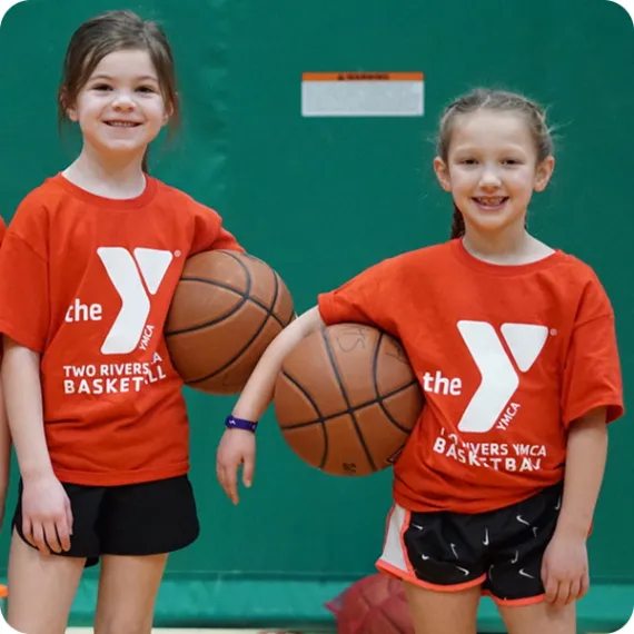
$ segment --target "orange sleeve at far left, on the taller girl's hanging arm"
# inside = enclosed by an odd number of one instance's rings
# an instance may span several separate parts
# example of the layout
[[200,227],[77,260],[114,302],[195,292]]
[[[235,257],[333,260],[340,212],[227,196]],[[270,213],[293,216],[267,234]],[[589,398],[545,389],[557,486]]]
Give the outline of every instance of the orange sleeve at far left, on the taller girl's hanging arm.
[[43,353],[50,325],[46,210],[23,204],[0,248],[0,333]]

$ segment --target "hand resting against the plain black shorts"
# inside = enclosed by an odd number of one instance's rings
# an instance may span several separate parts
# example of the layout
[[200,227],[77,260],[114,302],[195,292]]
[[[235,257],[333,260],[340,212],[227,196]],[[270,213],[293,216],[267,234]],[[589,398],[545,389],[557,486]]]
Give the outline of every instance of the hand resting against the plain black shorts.
[[70,549],[70,499],[55,475],[24,481],[22,533],[44,555]]

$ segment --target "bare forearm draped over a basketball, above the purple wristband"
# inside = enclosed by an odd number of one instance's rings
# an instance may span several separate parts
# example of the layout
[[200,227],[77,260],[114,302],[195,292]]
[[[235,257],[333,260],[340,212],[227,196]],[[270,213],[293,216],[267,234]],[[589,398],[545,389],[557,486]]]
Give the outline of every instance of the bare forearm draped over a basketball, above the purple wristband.
[[273,399],[275,383],[286,356],[310,333],[324,326],[317,307],[287,326],[269,345],[240,394],[234,416],[258,420]]

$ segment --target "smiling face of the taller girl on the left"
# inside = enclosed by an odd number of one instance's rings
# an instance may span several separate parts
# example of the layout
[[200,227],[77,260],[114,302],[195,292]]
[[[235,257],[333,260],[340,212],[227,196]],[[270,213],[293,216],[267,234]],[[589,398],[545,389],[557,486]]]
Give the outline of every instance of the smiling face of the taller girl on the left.
[[105,56],[67,108],[85,146],[103,156],[142,156],[168,122],[157,70],[146,50]]

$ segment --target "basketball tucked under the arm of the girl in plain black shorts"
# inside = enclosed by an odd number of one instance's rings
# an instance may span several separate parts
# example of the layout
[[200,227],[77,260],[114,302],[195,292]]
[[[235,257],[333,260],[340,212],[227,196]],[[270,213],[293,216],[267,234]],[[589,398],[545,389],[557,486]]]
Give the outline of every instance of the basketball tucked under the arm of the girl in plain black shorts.
[[204,251],[185,264],[165,336],[186,385],[230,395],[294,317],[288,288],[266,262],[239,251]]

